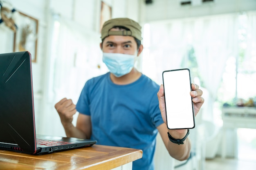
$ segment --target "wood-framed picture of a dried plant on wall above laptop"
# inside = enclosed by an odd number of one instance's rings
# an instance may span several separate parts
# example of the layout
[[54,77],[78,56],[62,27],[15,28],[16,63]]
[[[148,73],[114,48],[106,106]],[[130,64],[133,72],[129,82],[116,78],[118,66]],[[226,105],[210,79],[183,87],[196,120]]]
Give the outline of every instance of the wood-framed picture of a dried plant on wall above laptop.
[[19,24],[14,33],[13,52],[29,51],[31,61],[36,62],[38,20],[19,12]]

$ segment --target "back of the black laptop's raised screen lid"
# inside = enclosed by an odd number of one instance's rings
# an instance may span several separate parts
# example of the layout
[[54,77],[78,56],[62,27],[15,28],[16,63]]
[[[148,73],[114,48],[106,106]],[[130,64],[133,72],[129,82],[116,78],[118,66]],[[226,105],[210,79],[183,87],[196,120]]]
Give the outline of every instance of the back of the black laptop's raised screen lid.
[[29,52],[0,54],[0,142],[35,152],[33,101]]

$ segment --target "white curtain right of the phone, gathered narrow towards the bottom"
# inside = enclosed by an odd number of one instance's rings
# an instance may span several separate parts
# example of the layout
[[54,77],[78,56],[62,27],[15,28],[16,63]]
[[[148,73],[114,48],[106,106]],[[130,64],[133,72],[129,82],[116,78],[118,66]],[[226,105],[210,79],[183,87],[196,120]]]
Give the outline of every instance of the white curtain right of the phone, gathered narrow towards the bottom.
[[218,15],[195,23],[195,56],[198,69],[209,92],[203,118],[213,120],[213,103],[229,57],[238,55],[238,15]]

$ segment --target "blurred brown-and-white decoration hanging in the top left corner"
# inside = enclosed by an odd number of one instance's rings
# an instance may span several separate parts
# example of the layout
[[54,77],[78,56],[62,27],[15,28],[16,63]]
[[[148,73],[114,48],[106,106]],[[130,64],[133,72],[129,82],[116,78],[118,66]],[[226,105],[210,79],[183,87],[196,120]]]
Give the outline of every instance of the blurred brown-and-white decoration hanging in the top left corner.
[[0,14],[1,28],[7,27],[13,32],[16,32],[16,20],[18,18],[18,12],[13,8],[13,6],[7,1],[0,0]]

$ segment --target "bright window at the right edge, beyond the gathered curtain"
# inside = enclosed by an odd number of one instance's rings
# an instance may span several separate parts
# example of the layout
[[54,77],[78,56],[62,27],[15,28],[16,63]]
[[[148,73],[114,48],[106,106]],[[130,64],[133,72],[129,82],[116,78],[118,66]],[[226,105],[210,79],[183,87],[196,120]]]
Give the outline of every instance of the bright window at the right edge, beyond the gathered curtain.
[[[254,50],[247,49],[248,44],[255,42],[250,41],[247,15],[239,15],[238,21],[238,54],[236,57],[229,57],[226,62],[216,101],[216,107],[220,110],[223,105],[245,104],[250,98],[256,101],[256,54]],[[220,123],[219,118],[220,116],[215,120]]]

